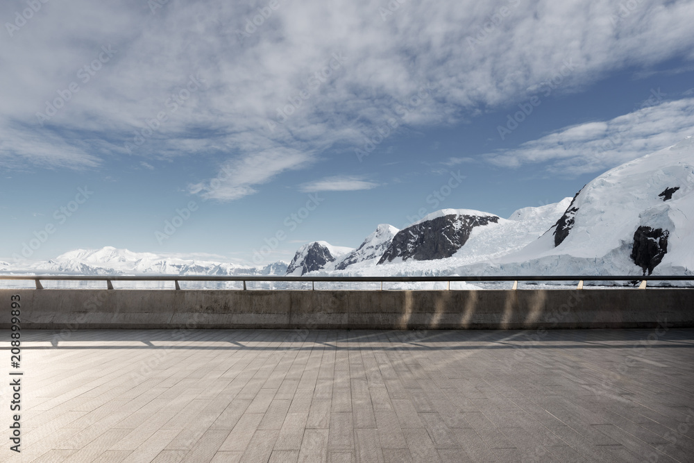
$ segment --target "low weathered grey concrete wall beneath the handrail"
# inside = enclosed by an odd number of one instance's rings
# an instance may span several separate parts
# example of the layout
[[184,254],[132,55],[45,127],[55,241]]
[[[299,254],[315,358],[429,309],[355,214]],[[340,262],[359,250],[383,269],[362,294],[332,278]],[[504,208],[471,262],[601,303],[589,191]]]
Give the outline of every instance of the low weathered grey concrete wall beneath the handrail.
[[22,329],[694,327],[693,289],[211,291],[0,289]]

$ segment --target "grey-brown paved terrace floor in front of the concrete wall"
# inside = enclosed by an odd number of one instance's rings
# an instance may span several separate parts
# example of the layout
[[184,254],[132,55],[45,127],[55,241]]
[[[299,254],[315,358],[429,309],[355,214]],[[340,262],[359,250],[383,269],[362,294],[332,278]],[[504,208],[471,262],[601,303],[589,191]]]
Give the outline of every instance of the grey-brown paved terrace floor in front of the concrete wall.
[[[0,338],[2,378],[10,362]],[[693,462],[694,330],[22,332],[24,462]]]

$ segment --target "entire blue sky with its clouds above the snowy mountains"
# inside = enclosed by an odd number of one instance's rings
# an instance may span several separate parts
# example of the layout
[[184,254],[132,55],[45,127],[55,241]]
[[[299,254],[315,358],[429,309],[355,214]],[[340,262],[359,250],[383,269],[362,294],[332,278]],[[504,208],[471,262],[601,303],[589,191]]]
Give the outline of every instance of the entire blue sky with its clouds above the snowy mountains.
[[8,262],[288,261],[441,208],[560,201],[694,132],[689,1],[12,0],[0,19]]

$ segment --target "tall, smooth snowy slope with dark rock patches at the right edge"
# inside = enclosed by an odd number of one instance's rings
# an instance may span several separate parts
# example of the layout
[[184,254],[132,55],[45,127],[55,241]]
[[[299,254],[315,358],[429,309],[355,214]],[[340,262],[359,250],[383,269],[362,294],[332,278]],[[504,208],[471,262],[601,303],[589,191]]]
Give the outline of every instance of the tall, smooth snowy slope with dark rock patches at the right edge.
[[[694,140],[607,171],[557,223],[483,273],[694,273]],[[461,271],[462,269],[456,269]]]

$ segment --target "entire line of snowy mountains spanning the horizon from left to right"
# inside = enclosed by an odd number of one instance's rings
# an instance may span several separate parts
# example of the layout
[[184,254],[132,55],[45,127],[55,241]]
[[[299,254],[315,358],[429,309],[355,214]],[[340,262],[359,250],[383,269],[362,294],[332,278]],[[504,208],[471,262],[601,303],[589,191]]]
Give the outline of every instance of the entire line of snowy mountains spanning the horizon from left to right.
[[105,247],[0,271],[83,274],[634,275],[694,274],[694,140],[607,171],[576,196],[508,219],[433,212],[403,230],[380,224],[356,249],[317,241],[294,258],[246,267]]

